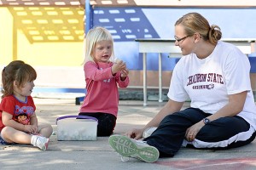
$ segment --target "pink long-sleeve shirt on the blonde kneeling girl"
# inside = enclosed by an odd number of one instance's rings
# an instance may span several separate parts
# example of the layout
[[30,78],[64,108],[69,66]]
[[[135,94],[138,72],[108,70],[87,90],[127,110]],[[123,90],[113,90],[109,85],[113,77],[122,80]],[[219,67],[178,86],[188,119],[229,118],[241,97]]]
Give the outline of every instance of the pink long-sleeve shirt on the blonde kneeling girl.
[[84,64],[84,75],[87,94],[85,95],[80,112],[103,112],[113,116],[118,114],[119,88],[126,88],[129,77],[120,80],[120,71],[112,75],[113,63],[94,63],[88,61]]

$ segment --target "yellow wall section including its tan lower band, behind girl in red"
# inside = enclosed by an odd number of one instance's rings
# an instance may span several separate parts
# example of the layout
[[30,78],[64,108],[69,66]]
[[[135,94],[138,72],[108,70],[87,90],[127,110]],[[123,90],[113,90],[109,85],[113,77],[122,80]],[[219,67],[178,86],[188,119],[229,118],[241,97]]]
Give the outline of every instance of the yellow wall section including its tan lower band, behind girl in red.
[[83,8],[0,7],[0,23],[0,71],[20,59],[36,86],[84,88]]

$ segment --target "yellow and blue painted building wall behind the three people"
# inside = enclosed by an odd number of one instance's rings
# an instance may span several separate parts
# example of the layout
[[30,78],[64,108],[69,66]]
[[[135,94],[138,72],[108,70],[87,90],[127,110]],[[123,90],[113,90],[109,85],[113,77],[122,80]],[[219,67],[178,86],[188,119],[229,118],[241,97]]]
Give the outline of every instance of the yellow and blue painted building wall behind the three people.
[[[131,9],[131,7],[129,8]],[[98,11],[102,10],[106,13],[109,10],[115,10],[115,12],[119,10],[119,8],[113,7],[95,9]],[[61,15],[61,18],[47,15],[49,11],[51,13],[63,15]],[[80,13],[76,13],[76,11],[79,11]],[[125,10],[124,8],[121,8],[119,11],[124,12]],[[107,26],[109,30],[113,30],[113,28],[122,28],[116,29],[116,31],[118,31],[119,35],[122,35],[124,38],[119,40],[115,39],[114,47],[117,57],[125,60],[128,68],[131,70],[130,87],[143,86],[143,59],[142,54],[138,54],[137,42],[134,42],[134,38],[147,37],[149,35],[147,33],[148,31],[149,33],[152,33],[151,37],[170,38],[173,36],[173,22],[177,20],[177,16],[181,16],[187,12],[199,11],[202,12],[202,14],[206,14],[211,23],[215,24],[216,21],[217,24],[219,23],[221,25],[224,37],[230,38],[233,35],[233,37],[239,38],[256,38],[254,29],[254,25],[256,24],[255,20],[253,20],[255,16],[254,8],[229,8],[226,12],[223,12],[224,8],[221,8],[221,10],[219,10],[221,13],[219,13],[218,8],[154,8],[152,6],[152,8],[140,7],[137,8],[137,11],[139,11],[139,15],[136,14],[137,18],[143,20],[143,23],[141,24],[137,24],[137,22],[130,22],[128,24],[114,22],[114,17],[110,16],[111,14],[109,16],[103,14],[105,18],[113,19],[110,23],[112,27],[108,23],[109,27],[106,25],[107,23],[100,22],[100,13],[94,15],[93,24],[93,26]],[[209,11],[211,12],[210,14],[208,13]],[[242,14],[246,15],[242,16]],[[115,16],[117,16],[117,14],[115,14]],[[237,17],[241,17],[244,20],[230,20],[232,17],[236,19]],[[159,20],[159,18],[161,20]],[[46,20],[48,23],[38,24],[38,22],[36,22],[30,26],[24,24],[27,21],[37,21],[38,19]],[[58,19],[56,20],[56,23],[51,22],[55,19]],[[75,29],[76,31],[69,34],[67,31],[73,30],[73,27],[69,27],[72,23],[67,19],[78,21],[74,25],[78,26],[78,29]],[[125,18],[125,20],[127,19],[129,19],[129,16]],[[170,20],[170,22],[168,20]],[[62,24],[58,24],[60,22]],[[3,65],[8,65],[8,63],[14,59],[21,59],[26,61],[26,63],[33,65],[38,71],[38,80],[36,81],[37,86],[84,88],[84,72],[82,66],[84,60],[84,42],[83,38],[81,38],[81,31],[82,35],[84,34],[83,8],[1,7],[0,23],[4,23],[0,26],[0,66],[2,66],[2,68]],[[32,26],[36,27],[33,27],[34,30],[31,31],[30,29]],[[139,29],[142,29],[145,32],[131,34],[133,36],[129,36],[131,31],[137,31]],[[62,33],[60,33],[60,31]],[[230,36],[231,32],[234,33]],[[74,37],[74,40],[65,40],[65,38],[63,38],[68,35]],[[137,35],[137,37],[134,37],[134,35]],[[47,39],[47,37],[53,36],[59,39],[54,39],[53,41]],[[168,58],[168,54],[162,55],[163,87],[168,88],[175,61]],[[157,88],[158,55],[149,54],[147,63],[148,87]],[[253,89],[255,89],[256,78],[254,76],[252,76],[252,78]]]

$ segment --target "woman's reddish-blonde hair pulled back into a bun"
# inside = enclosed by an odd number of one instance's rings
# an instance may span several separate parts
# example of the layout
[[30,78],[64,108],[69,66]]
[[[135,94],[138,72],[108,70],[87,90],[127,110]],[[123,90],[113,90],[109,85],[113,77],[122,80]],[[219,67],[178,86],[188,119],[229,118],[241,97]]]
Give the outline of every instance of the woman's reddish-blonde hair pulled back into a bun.
[[183,15],[183,17],[176,21],[175,26],[177,25],[183,26],[189,36],[198,32],[205,41],[209,41],[214,45],[222,37],[220,28],[216,25],[210,26],[207,19],[198,13]]

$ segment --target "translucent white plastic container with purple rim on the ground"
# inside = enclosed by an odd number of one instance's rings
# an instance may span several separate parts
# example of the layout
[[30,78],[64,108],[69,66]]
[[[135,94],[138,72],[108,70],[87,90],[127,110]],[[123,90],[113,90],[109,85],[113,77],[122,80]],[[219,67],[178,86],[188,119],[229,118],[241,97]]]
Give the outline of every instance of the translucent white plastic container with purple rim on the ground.
[[98,122],[95,117],[61,116],[56,124],[57,140],[96,140]]

